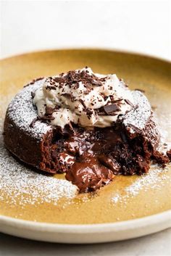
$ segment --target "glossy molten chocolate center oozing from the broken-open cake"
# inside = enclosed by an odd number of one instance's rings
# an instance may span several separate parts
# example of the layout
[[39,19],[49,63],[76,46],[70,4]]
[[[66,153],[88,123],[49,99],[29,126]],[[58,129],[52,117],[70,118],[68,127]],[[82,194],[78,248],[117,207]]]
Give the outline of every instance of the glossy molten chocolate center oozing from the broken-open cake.
[[137,168],[146,172],[142,163],[139,168],[142,159],[134,153],[134,149],[141,151],[138,141],[136,145],[135,148],[121,127],[93,131],[75,127],[72,132],[68,128],[62,132],[56,153],[67,180],[77,185],[80,192],[87,192],[106,185],[114,174],[133,174]]

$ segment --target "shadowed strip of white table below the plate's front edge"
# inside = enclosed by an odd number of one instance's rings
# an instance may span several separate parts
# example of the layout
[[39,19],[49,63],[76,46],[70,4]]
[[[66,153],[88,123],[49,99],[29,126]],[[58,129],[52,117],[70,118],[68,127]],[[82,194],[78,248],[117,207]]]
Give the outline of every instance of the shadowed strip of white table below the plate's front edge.
[[51,244],[0,234],[0,256],[170,256],[171,230],[106,244]]

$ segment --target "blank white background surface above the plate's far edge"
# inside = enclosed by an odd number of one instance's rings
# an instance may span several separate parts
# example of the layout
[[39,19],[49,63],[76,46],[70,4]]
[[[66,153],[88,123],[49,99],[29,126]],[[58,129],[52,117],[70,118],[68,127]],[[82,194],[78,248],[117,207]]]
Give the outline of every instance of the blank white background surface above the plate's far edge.
[[1,1],[1,57],[106,47],[171,59],[170,0]]

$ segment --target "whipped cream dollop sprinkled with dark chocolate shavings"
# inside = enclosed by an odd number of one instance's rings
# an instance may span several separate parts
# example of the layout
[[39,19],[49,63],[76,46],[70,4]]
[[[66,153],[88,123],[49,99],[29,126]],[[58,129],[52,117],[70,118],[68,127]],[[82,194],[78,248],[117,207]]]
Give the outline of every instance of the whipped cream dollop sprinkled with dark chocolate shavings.
[[117,75],[101,75],[85,67],[43,80],[33,104],[38,116],[51,125],[104,128],[132,109],[133,97]]

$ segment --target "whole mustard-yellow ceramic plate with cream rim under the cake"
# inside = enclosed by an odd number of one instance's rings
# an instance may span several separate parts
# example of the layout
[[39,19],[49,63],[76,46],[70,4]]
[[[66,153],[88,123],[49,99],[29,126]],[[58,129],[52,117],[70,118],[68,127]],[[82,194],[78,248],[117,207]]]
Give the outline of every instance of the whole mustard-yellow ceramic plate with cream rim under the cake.
[[[40,51],[1,60],[0,119],[3,120],[14,94],[33,78],[86,65],[96,73],[116,73],[130,88],[145,90],[164,140],[171,142],[170,62],[118,51]],[[72,198],[72,193],[65,191],[62,197],[62,192],[57,194],[57,191],[63,175],[49,177],[36,173],[34,176],[30,168],[15,164],[16,160],[2,144],[1,137],[0,231],[30,239],[86,243],[128,239],[170,226],[170,166],[164,170],[152,166],[141,177],[117,176],[109,186],[93,194]],[[2,170],[8,180],[2,178]],[[33,176],[30,178],[28,173]],[[33,187],[29,179],[34,178],[37,180]],[[49,186],[51,179],[55,179],[55,186],[60,180],[58,188]]]

